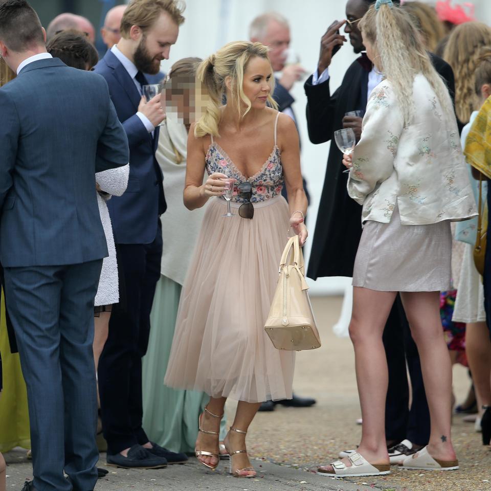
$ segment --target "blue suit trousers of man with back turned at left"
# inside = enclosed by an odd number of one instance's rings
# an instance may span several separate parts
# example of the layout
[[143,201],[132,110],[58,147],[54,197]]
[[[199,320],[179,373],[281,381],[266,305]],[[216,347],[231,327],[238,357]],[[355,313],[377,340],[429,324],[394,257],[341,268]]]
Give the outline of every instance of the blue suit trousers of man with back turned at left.
[[94,489],[97,391],[92,343],[102,259],[5,267],[6,301],[27,385],[34,487]]

